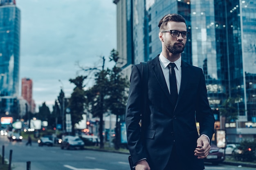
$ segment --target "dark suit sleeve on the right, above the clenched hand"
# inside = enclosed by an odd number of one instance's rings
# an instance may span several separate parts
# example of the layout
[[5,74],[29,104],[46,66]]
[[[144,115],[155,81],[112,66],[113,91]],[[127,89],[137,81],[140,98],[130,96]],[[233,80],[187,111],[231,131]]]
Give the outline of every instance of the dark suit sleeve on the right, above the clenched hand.
[[207,98],[207,89],[205,85],[205,78],[200,69],[200,83],[198,87],[198,102],[196,106],[196,120],[200,124],[200,135],[207,135],[210,139],[214,133],[214,116],[211,111],[211,107],[209,106],[209,101]]

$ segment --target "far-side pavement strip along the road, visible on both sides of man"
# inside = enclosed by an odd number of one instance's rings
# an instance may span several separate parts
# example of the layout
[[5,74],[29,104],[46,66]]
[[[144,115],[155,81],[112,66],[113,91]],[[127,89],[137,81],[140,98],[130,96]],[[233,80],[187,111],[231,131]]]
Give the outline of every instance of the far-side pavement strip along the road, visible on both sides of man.
[[[97,150],[101,152],[113,152],[113,153],[123,153],[129,155],[129,150],[127,149],[119,149],[115,150],[115,148],[110,148],[108,146],[104,146],[103,149],[100,149],[99,146],[85,146],[85,149],[88,150]],[[232,166],[242,166],[242,167],[249,167],[249,168],[256,168],[256,162],[241,162],[235,161],[231,156],[226,156],[225,161],[222,164],[232,165]]]

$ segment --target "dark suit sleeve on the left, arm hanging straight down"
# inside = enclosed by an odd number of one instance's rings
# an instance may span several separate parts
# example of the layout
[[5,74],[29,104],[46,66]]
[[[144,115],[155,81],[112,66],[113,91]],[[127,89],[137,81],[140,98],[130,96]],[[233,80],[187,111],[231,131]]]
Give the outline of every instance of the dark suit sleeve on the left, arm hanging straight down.
[[132,68],[130,77],[130,89],[128,102],[126,105],[126,134],[128,148],[133,163],[147,157],[143,142],[141,139],[141,130],[139,121],[141,119],[141,111],[143,107],[143,90],[141,87],[141,65],[135,65]]

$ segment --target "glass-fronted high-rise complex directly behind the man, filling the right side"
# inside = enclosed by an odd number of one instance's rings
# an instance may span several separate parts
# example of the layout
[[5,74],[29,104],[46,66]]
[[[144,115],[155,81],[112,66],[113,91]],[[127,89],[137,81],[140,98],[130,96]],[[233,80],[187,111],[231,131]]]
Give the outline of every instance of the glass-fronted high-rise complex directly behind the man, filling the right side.
[[[216,128],[227,128],[229,142],[256,138],[255,0],[114,0],[117,4],[117,51],[124,73],[162,50],[159,20],[179,13],[191,32],[182,59],[202,68]],[[225,122],[220,110],[228,98],[238,120]]]

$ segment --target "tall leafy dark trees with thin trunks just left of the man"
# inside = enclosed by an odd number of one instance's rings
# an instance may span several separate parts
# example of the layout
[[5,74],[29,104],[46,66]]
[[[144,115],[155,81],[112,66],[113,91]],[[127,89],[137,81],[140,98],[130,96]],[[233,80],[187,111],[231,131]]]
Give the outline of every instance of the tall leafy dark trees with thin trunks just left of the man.
[[[85,92],[87,97],[86,108],[94,117],[100,118],[99,133],[102,134],[102,119],[103,114],[110,111],[112,114],[119,116],[125,114],[126,102],[128,98],[129,82],[121,74],[119,65],[119,54],[116,50],[112,50],[109,57],[110,61],[115,62],[112,70],[104,70],[104,57],[103,69],[95,74],[95,85]],[[89,69],[90,70],[90,69]],[[116,122],[116,145],[120,143],[120,127],[119,122]],[[103,141],[100,135],[100,141]],[[101,147],[102,147],[101,143]],[[119,148],[115,147],[115,148]]]

